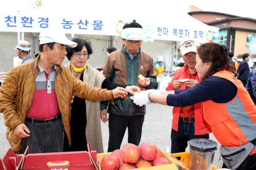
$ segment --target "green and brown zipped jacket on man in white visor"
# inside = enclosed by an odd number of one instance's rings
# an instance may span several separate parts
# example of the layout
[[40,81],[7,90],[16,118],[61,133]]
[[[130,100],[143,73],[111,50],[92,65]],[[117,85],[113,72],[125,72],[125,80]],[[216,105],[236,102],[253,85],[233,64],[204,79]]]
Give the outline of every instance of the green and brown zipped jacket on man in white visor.
[[[138,75],[150,79],[150,85],[141,87],[138,83]],[[141,89],[151,89],[157,85],[157,76],[154,69],[153,58],[144,51],[139,51],[133,59],[130,58],[125,48],[117,50],[108,55],[103,70],[103,75],[114,83],[128,86],[139,86]],[[128,95],[129,97],[131,94]],[[133,100],[113,99],[108,102],[101,102],[101,110],[108,106],[108,113],[123,116],[137,116],[146,114],[146,105],[140,107],[133,103]]]

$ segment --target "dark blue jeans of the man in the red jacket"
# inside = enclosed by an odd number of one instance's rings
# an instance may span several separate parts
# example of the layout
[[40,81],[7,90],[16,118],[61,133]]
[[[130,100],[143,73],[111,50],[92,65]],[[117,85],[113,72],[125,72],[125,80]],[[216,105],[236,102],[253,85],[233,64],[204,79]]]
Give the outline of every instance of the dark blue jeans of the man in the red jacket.
[[209,134],[195,135],[195,123],[184,122],[182,118],[179,118],[178,131],[172,129],[171,133],[171,153],[185,152],[188,141],[195,138],[209,139]]

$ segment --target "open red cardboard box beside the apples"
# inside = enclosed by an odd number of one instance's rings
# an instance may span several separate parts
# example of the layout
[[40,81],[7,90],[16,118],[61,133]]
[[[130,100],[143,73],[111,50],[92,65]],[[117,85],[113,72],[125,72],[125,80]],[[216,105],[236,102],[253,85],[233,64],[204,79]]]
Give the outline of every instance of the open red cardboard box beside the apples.
[[3,158],[0,158],[0,170],[19,170],[19,169],[37,169],[37,170],[98,170],[97,151],[92,151],[87,144],[88,151],[78,152],[59,152],[59,153],[41,153],[26,154],[27,147],[23,155],[16,155],[12,149],[9,149]]

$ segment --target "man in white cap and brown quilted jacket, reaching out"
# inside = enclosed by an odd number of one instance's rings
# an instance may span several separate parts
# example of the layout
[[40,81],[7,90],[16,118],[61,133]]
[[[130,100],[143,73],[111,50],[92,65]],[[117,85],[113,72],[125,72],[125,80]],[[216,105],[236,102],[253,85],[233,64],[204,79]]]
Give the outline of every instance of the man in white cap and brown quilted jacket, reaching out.
[[28,153],[61,152],[63,127],[71,146],[73,95],[108,100],[127,94],[121,87],[108,91],[87,86],[62,66],[66,46],[77,46],[64,33],[42,32],[39,40],[41,54],[33,61],[12,68],[0,87],[0,112],[4,114],[7,139],[20,154],[27,146]]

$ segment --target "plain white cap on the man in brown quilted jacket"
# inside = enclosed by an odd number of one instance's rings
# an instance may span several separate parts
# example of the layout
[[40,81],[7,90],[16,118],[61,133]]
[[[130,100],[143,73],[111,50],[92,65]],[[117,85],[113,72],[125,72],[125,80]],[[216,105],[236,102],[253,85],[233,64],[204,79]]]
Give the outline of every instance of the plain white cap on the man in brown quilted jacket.
[[74,48],[77,46],[77,43],[68,40],[65,33],[60,32],[41,32],[39,35],[40,44],[46,43],[60,43],[67,45],[68,47]]

